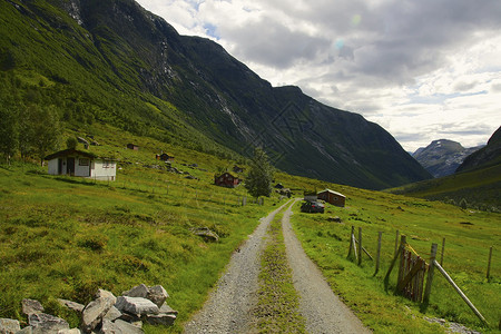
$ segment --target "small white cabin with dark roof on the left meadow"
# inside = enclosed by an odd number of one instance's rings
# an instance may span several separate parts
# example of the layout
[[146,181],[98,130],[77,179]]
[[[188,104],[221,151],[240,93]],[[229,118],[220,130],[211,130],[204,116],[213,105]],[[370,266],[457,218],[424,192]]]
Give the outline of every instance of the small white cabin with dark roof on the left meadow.
[[101,158],[87,151],[65,149],[45,158],[49,161],[50,175],[70,175],[88,177],[98,180],[115,180],[117,161]]

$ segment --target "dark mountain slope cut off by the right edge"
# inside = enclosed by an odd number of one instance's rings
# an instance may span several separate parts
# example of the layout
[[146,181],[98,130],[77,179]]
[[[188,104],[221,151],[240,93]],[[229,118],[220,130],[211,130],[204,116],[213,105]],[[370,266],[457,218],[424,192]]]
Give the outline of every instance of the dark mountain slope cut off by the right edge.
[[456,173],[501,165],[501,127],[489,138],[488,145],[468,156]]

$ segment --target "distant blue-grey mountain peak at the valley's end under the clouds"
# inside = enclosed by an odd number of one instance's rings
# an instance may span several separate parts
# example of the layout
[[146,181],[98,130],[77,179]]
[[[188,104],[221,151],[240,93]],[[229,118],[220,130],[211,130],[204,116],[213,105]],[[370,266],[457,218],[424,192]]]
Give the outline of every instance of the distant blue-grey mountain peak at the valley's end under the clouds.
[[463,160],[480,148],[482,146],[464,148],[456,141],[440,139],[420,147],[412,156],[434,177],[442,177],[454,174]]

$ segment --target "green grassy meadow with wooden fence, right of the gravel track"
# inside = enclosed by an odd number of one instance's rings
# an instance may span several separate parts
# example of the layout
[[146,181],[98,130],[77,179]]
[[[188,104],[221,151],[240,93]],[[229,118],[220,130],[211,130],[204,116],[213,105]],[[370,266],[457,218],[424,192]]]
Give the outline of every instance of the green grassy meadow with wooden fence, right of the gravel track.
[[[376,333],[436,333],[439,325],[423,320],[442,317],[459,322],[482,333],[498,333],[501,317],[501,216],[479,210],[463,210],[440,202],[409,198],[351,187],[334,188],[347,196],[346,207],[327,205],[326,214],[299,213],[292,216],[302,244],[320,266],[328,283],[363,323]],[[338,216],[342,223],[328,222]],[[383,232],[380,271],[365,254],[362,266],[347,258],[351,226],[362,227],[363,246],[375,258],[379,232]],[[394,295],[397,268],[385,288],[386,275],[394,255],[396,230],[429,259],[432,243],[445,238],[443,267],[490,324],[484,326],[445,278],[435,271],[428,307]],[[489,248],[493,246],[490,279],[487,279]]]

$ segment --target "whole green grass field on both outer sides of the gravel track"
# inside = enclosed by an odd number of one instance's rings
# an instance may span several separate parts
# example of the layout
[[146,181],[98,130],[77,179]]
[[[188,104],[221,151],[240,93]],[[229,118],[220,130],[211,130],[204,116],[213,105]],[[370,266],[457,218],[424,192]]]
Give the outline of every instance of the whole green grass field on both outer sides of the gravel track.
[[[0,166],[0,317],[26,323],[21,299],[36,298],[48,313],[76,326],[78,316],[61,308],[57,298],[87,303],[98,287],[120,295],[141,283],[161,284],[170,295],[167,303],[179,316],[175,326],[146,326],[146,333],[180,333],[183,323],[202,307],[234,249],[261,217],[276,208],[278,195],[266,198],[264,206],[253,204],[247,196],[243,207],[244,187],[213,185],[217,170],[242,161],[220,160],[97,124],[81,131],[91,131],[102,145],[92,147],[95,153],[119,159],[116,181],[49,176],[47,167],[37,161]],[[125,149],[127,143],[139,145],[139,151]],[[151,168],[161,164],[155,160],[161,150],[176,157],[174,167],[198,180]],[[198,164],[198,168],[188,167],[190,164]],[[275,180],[291,188],[294,197],[323,188],[347,196],[345,208],[327,206],[323,215],[301,214],[297,204],[292,223],[333,289],[376,333],[441,330],[423,316],[495,332],[501,315],[499,214],[282,173]],[[328,222],[330,216],[340,216],[343,223]],[[361,267],[346,258],[352,225],[363,228],[364,247],[374,256],[377,232],[383,232],[381,271],[375,276],[369,258]],[[205,242],[191,233],[196,227],[209,227],[220,240]],[[395,273],[385,291],[383,277],[393,256],[396,229],[423,257],[429,257],[432,243],[440,246],[445,237],[443,266],[490,328],[482,327],[440,274],[426,310],[393,294]],[[488,281],[490,246],[494,252]]]

